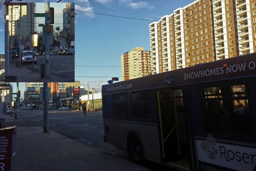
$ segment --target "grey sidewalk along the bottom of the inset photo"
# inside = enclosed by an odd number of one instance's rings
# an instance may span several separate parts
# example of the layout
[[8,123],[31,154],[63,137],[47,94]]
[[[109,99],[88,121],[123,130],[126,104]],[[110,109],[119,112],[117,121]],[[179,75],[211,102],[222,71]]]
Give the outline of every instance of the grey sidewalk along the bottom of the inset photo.
[[[59,78],[56,76],[51,75],[50,78],[41,78],[41,73],[32,72],[32,64],[23,64],[19,67],[16,66],[16,62],[10,63],[9,67],[9,76],[6,77],[6,82],[65,82],[63,78]],[[41,67],[34,65],[34,67]]]

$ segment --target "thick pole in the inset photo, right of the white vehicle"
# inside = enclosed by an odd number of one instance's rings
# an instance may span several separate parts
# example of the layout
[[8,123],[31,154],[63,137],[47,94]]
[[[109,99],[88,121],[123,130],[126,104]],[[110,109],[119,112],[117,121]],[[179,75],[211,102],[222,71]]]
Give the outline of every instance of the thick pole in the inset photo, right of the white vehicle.
[[44,77],[50,78],[50,42],[49,42],[49,34],[51,32],[51,26],[50,26],[50,17],[49,17],[49,7],[50,3],[45,3],[45,29],[44,29],[44,45],[45,45],[45,63],[44,63]]

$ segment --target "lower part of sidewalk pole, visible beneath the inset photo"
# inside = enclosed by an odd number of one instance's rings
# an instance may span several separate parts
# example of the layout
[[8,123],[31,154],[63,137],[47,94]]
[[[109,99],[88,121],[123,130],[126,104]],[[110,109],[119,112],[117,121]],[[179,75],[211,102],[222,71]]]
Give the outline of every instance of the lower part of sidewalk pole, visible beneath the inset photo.
[[49,126],[48,126],[48,86],[47,82],[44,82],[44,130],[43,133],[49,133]]

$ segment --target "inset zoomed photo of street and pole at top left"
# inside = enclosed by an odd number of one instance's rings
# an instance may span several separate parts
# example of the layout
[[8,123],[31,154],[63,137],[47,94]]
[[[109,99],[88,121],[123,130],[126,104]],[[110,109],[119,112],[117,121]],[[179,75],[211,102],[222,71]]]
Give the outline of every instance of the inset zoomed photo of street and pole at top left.
[[5,14],[5,81],[75,81],[74,3],[5,3]]

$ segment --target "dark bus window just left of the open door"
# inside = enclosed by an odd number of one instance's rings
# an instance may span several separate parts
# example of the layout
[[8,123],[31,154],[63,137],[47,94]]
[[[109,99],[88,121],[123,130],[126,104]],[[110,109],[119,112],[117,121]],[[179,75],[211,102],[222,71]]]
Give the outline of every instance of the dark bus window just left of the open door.
[[136,119],[151,118],[151,94],[149,92],[131,94],[132,115]]

